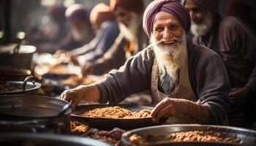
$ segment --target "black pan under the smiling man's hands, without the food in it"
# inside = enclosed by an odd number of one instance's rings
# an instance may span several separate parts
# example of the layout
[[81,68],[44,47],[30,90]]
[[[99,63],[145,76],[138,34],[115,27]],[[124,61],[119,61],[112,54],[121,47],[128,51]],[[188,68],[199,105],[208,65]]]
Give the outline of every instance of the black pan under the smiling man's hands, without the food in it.
[[[138,106],[138,105],[128,105],[128,104],[118,104],[116,106],[125,108],[132,112],[140,111],[140,110],[153,110],[154,107],[146,107],[146,106]],[[146,126],[154,126],[159,125],[165,122],[167,118],[162,118],[158,122],[154,122],[153,118],[138,118],[138,119],[110,119],[110,118],[91,118],[91,117],[83,117],[81,114],[83,112],[94,110],[95,108],[103,108],[103,107],[114,107],[108,104],[89,104],[89,105],[80,105],[75,107],[71,114],[72,120],[78,120],[80,123],[89,124],[92,128],[99,128],[104,130],[110,130],[112,128],[118,127],[122,129],[133,129],[140,128]]]

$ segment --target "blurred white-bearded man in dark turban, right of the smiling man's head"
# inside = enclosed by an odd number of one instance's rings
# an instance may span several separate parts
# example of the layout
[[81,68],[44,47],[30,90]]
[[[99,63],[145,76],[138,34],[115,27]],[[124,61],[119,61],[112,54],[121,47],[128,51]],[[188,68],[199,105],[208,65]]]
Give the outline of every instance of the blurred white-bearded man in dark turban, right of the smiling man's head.
[[221,20],[219,0],[183,0],[181,3],[188,10],[192,24],[190,31],[193,42],[204,45],[218,53],[218,30]]

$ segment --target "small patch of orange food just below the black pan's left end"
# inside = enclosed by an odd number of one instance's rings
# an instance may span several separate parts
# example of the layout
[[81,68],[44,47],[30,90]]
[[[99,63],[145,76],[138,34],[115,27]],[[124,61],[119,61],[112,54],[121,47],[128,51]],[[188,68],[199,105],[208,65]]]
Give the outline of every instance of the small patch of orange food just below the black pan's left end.
[[70,122],[70,132],[72,134],[84,134],[89,131],[89,126],[78,122]]

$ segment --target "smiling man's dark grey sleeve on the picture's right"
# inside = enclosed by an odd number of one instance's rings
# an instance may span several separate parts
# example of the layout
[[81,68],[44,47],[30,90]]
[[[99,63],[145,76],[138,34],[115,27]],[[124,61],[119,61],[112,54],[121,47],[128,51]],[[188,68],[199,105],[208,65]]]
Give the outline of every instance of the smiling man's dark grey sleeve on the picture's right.
[[224,124],[227,122],[229,110],[227,94],[230,91],[230,83],[227,70],[217,53],[206,47],[197,51],[194,57],[190,57],[192,63],[189,76],[192,78],[192,87],[197,93],[198,102],[208,107],[208,123]]

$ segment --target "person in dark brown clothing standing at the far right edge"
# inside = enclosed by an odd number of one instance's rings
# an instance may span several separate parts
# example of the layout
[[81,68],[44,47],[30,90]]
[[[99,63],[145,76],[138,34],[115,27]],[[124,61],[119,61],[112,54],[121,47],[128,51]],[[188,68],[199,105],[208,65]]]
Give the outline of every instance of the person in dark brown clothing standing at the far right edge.
[[248,23],[250,10],[245,1],[227,1],[219,26],[219,54],[231,85],[230,124],[246,128],[256,122],[256,35]]

